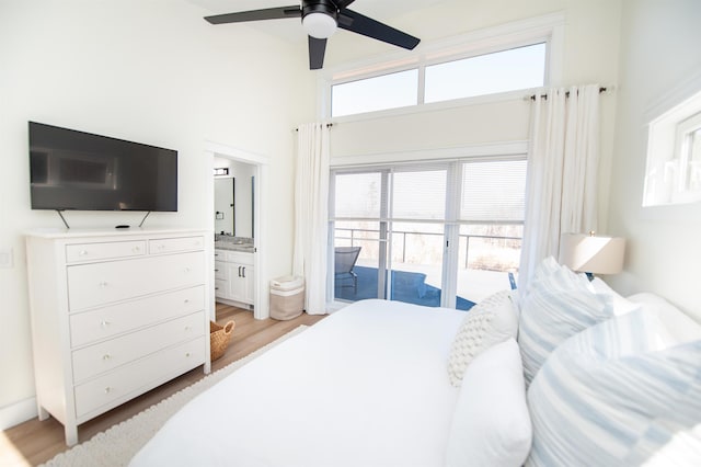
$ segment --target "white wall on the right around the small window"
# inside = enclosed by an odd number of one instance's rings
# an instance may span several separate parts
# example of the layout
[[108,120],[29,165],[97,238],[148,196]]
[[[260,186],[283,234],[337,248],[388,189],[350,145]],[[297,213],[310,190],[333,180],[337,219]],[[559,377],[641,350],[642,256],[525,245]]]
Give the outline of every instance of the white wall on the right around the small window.
[[700,20],[698,0],[623,2],[609,219],[611,231],[629,240],[625,273],[612,284],[625,294],[655,292],[699,319],[700,206],[643,210],[641,204],[646,125],[680,86],[701,77]]

